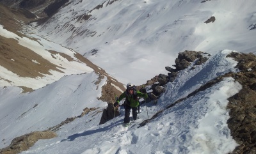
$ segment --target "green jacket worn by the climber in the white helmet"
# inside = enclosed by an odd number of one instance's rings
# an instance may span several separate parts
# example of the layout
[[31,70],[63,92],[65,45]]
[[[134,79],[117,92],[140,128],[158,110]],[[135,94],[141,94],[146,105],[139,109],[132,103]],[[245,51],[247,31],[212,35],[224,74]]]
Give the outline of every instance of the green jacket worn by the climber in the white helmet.
[[140,91],[136,91],[136,94],[129,94],[128,91],[124,91],[122,93],[117,102],[119,102],[125,98],[125,104],[131,106],[131,107],[138,107],[140,105],[138,98],[148,98],[147,93],[141,93]]

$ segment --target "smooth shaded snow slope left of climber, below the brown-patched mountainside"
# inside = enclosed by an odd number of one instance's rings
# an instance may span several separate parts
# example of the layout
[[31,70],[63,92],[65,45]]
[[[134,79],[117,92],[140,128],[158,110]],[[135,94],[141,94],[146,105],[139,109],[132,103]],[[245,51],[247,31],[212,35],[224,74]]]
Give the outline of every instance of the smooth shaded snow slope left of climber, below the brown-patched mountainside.
[[[68,75],[32,93],[20,94],[20,88],[1,88],[0,148],[9,145],[14,137],[36,130],[47,130],[61,121],[79,116],[85,107],[106,107],[101,96],[103,79],[95,84],[95,73]],[[98,121],[99,122],[99,121]]]

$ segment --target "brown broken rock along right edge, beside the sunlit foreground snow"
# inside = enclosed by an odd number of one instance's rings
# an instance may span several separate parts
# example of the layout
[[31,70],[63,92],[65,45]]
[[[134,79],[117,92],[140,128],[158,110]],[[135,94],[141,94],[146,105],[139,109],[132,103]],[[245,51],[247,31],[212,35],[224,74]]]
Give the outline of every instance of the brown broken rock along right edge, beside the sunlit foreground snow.
[[231,135],[240,144],[232,153],[256,153],[256,56],[232,52],[228,55],[239,63],[240,72],[232,77],[243,85],[243,89],[230,97],[228,127]]

